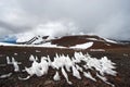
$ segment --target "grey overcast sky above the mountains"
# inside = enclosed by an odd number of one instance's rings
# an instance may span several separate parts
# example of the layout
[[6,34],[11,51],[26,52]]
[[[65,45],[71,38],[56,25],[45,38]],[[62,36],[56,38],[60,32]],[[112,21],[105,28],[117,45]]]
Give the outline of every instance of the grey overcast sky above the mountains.
[[1,0],[0,36],[20,33],[130,39],[130,0]]

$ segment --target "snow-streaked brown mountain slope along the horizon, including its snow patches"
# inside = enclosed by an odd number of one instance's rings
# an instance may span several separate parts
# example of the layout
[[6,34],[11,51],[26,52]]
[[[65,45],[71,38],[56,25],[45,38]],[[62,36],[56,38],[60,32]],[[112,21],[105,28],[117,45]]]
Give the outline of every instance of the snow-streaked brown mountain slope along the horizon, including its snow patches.
[[[123,47],[126,45],[114,41],[114,40],[109,40],[106,38],[102,38],[99,36],[94,36],[94,35],[80,35],[80,36],[63,36],[63,37],[57,37],[57,38],[50,38],[49,36],[34,36],[30,37],[30,39],[25,39],[26,37],[17,37],[16,39],[16,46],[21,45],[21,46],[28,46],[28,47],[62,47],[62,48],[74,48],[75,46],[82,46],[83,49],[88,49],[86,48],[84,45],[89,45],[90,42],[92,42],[91,49],[104,49],[104,48],[118,48],[118,47]],[[2,44],[3,45],[3,44]],[[14,46],[15,46],[14,45]],[[88,47],[87,45],[87,47]],[[80,48],[79,48],[80,49]]]

